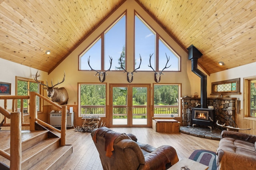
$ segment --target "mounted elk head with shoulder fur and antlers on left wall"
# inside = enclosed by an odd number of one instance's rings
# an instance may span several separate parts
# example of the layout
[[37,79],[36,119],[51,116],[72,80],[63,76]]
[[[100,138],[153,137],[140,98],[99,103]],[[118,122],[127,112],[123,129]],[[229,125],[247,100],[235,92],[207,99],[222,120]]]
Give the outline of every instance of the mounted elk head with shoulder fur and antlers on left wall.
[[36,72],[36,77],[34,77],[34,80],[38,84],[41,84],[42,86],[46,86],[46,87],[43,87],[43,89],[47,90],[47,96],[50,98],[50,100],[52,100],[52,102],[56,102],[57,104],[60,104],[60,105],[68,104],[68,92],[67,92],[67,90],[64,87],[61,87],[61,88],[55,87],[58,84],[64,82],[65,76],[66,76],[65,72],[64,72],[63,80],[61,82],[59,82],[59,80],[58,80],[58,83],[55,84],[55,85],[52,84],[52,87],[48,86],[47,80],[46,80],[46,85],[43,84],[41,81],[39,82],[37,80],[37,78],[40,76],[40,74],[37,75],[37,73],[38,73],[38,71]]

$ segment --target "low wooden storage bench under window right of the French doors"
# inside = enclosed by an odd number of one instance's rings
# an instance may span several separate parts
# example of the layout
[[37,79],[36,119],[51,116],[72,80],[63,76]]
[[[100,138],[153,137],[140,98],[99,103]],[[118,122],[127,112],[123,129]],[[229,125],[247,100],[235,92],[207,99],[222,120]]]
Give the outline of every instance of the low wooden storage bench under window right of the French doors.
[[180,122],[174,119],[154,119],[152,128],[156,132],[179,132]]

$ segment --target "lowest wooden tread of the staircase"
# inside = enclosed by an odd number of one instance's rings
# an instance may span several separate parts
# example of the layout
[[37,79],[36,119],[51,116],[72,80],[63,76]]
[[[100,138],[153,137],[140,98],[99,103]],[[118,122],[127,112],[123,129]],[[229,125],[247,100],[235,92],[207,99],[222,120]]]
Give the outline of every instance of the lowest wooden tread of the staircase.
[[[58,147],[54,151],[52,151],[50,154],[45,156],[42,160],[37,162],[34,166],[32,166],[29,170],[38,170],[38,169],[48,169],[51,167],[56,161],[58,161],[64,154],[67,152],[72,153],[72,145],[65,145]],[[69,155],[69,153],[65,156],[64,159],[66,159]]]

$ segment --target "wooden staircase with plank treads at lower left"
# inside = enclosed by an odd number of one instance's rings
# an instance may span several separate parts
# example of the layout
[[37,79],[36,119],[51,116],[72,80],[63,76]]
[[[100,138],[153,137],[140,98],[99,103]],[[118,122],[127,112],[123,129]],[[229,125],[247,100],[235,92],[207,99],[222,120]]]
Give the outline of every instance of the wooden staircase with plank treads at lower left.
[[[72,145],[60,146],[60,137],[35,123],[35,131],[22,131],[22,170],[56,170],[72,154]],[[0,149],[10,153],[10,131],[0,131]],[[0,156],[0,169],[10,160]]]

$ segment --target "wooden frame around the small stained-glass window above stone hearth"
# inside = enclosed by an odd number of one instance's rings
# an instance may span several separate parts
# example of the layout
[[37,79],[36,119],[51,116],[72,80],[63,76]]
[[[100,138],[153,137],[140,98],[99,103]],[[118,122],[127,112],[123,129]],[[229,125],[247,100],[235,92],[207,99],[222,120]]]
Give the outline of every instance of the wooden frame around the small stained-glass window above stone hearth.
[[[236,82],[236,91],[234,92],[215,92],[214,91],[214,86],[219,85],[219,84],[228,84],[228,83],[232,83],[232,82]],[[234,78],[234,79],[230,79],[230,80],[224,80],[224,81],[218,81],[218,82],[212,82],[212,93],[211,95],[220,95],[220,94],[241,94],[240,92],[240,78]]]

